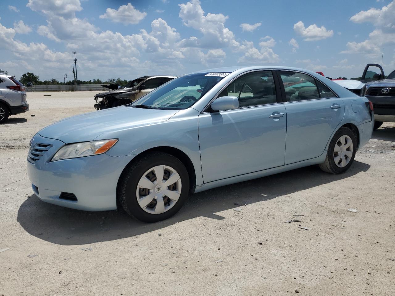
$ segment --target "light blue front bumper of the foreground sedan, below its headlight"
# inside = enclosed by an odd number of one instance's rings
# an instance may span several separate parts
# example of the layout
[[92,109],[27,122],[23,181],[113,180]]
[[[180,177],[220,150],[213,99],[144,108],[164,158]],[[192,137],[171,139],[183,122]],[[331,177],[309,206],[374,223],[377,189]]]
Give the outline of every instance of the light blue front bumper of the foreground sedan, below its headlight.
[[[113,157],[107,154],[50,162],[64,143],[34,136],[32,146],[52,145],[34,163],[28,158],[27,172],[34,193],[43,201],[67,208],[86,211],[105,211],[117,208],[117,183],[135,155]],[[60,194],[73,193],[77,201],[61,199]]]

